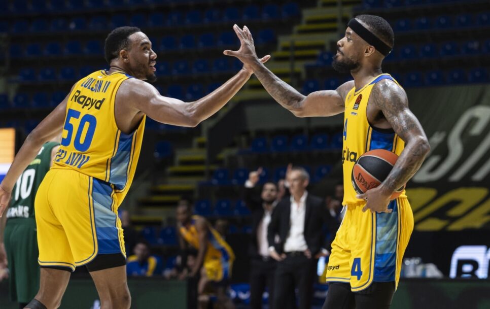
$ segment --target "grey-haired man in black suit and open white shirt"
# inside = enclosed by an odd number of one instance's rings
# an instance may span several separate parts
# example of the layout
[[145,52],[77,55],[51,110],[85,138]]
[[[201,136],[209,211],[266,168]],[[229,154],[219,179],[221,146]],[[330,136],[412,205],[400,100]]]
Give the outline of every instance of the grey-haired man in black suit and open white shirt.
[[[299,309],[310,309],[318,258],[330,253],[338,223],[328,214],[323,199],[306,191],[309,175],[304,168],[293,167],[287,180],[291,197],[277,204],[267,233],[269,254],[278,261],[273,308],[284,308],[288,293],[297,287]],[[324,224],[332,235],[328,241],[324,237]],[[274,241],[276,235],[278,242]]]

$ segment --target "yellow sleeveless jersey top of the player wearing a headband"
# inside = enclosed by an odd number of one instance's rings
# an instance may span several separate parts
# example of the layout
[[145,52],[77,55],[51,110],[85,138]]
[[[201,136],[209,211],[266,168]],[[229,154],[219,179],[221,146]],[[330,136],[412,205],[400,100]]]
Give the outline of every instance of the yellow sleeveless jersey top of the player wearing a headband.
[[[364,200],[356,198],[357,193],[354,190],[351,179],[352,168],[363,153],[373,149],[385,149],[400,155],[403,148],[405,148],[405,143],[393,130],[374,128],[367,119],[366,108],[371,90],[377,82],[383,79],[389,79],[398,84],[389,74],[381,74],[357,91],[355,87],[352,88],[345,99],[342,136],[343,205],[364,202]],[[402,192],[400,197],[406,197],[405,191]]]

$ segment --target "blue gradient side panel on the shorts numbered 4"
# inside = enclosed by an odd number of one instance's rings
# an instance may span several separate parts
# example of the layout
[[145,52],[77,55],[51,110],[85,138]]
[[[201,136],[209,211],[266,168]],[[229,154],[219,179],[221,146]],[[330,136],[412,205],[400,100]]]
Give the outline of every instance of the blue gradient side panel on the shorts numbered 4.
[[376,213],[376,248],[374,255],[374,281],[395,281],[398,238],[398,204],[396,199],[388,205],[391,214]]

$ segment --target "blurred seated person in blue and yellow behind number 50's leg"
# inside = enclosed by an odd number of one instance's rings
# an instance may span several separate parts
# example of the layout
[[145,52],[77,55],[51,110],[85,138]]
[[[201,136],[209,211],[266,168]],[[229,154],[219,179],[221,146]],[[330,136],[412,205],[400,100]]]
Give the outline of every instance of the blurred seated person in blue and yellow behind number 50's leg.
[[162,273],[162,263],[159,258],[151,255],[150,244],[140,240],[134,247],[134,255],[128,258],[126,264],[128,276],[152,277]]

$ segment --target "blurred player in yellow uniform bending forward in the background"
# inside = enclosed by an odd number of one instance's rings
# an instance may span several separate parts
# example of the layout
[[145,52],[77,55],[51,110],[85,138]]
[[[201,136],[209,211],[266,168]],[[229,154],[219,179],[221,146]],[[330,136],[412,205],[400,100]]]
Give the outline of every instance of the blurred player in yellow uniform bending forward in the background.
[[189,205],[181,204],[177,207],[177,220],[181,249],[185,250],[190,246],[198,251],[189,277],[195,277],[200,272],[197,284],[199,309],[206,309],[208,306],[209,300],[204,293],[210,285],[216,290],[220,308],[234,308],[226,294],[235,260],[233,250],[206,219],[192,216]]

